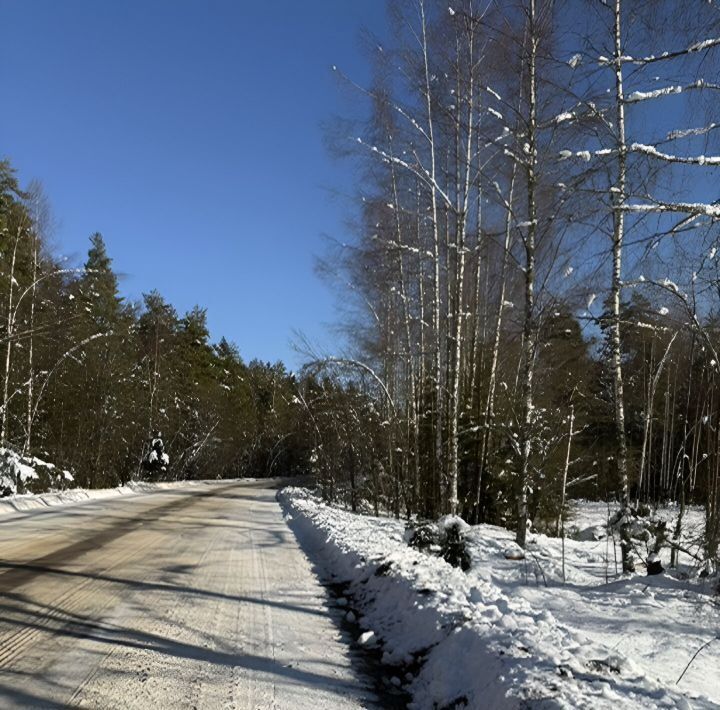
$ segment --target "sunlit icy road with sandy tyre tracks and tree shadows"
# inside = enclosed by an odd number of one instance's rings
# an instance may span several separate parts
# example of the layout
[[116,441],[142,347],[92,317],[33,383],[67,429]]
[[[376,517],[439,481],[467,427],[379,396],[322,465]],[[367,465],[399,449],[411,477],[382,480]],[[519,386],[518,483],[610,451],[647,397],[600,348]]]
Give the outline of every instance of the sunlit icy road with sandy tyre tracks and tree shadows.
[[275,491],[0,518],[0,707],[373,707]]

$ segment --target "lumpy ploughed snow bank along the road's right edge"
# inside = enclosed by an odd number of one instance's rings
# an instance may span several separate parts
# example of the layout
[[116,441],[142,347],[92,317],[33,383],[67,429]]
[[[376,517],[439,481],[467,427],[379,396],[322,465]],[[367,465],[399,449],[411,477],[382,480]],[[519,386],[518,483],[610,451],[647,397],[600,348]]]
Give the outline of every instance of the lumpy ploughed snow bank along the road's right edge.
[[[717,707],[700,696],[690,701],[630,657],[560,623],[541,597],[517,594],[516,581],[503,586],[492,569],[464,574],[411,549],[399,521],[327,506],[305,489],[286,488],[278,499],[314,561],[349,583],[383,662],[417,667],[405,676],[416,710]],[[527,561],[506,560],[507,540],[496,542],[498,559],[527,586]],[[483,555],[473,557],[477,565]]]

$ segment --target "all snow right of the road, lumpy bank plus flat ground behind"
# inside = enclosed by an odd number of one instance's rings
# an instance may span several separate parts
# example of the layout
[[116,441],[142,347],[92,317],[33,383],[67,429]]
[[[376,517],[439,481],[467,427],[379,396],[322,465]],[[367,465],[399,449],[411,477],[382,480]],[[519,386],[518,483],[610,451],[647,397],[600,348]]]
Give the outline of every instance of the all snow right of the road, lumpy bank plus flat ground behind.
[[[300,540],[322,546],[315,562],[349,583],[361,641],[381,644],[417,710],[720,707],[720,640],[676,683],[720,632],[718,598],[698,580],[611,581],[611,541],[566,540],[563,584],[559,539],[533,535],[526,559],[508,560],[512,534],[488,525],[468,532],[463,573],[408,547],[401,521],[354,515],[305,489],[279,499]],[[602,526],[599,511],[581,508],[576,524]]]

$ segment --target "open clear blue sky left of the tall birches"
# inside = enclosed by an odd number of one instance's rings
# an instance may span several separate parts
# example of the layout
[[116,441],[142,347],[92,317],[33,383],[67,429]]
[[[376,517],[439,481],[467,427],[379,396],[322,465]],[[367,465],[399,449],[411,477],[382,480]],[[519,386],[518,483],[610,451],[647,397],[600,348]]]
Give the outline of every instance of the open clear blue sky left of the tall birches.
[[57,250],[100,231],[129,298],[207,307],[246,360],[332,347],[313,273],[342,237],[349,168],[321,122],[344,108],[331,66],[367,77],[361,27],[383,0],[0,0],[0,156],[39,179]]

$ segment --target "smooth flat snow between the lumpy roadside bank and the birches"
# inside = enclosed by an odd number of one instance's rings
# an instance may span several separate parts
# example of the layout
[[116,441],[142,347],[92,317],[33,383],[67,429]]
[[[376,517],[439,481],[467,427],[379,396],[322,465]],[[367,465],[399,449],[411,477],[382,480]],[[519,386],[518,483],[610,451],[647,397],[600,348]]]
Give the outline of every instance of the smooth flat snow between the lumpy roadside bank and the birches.
[[[683,554],[678,573],[622,578],[616,572],[619,541],[606,536],[593,540],[587,535],[588,531],[604,535],[607,514],[604,504],[576,504],[574,524],[589,539],[566,539],[566,584],[562,583],[560,539],[531,535],[527,560],[518,564],[502,554],[513,544],[512,533],[489,525],[473,528],[469,534],[470,577],[485,579],[533,608],[549,611],[566,628],[632,659],[643,673],[667,687],[697,692],[720,706],[717,579],[698,577],[700,570]],[[661,510],[659,516],[673,523],[677,509]],[[687,512],[682,541],[691,551],[697,551],[702,521],[702,510]],[[669,552],[664,550],[661,557],[667,567]],[[677,683],[693,654],[708,641],[710,645]]]

